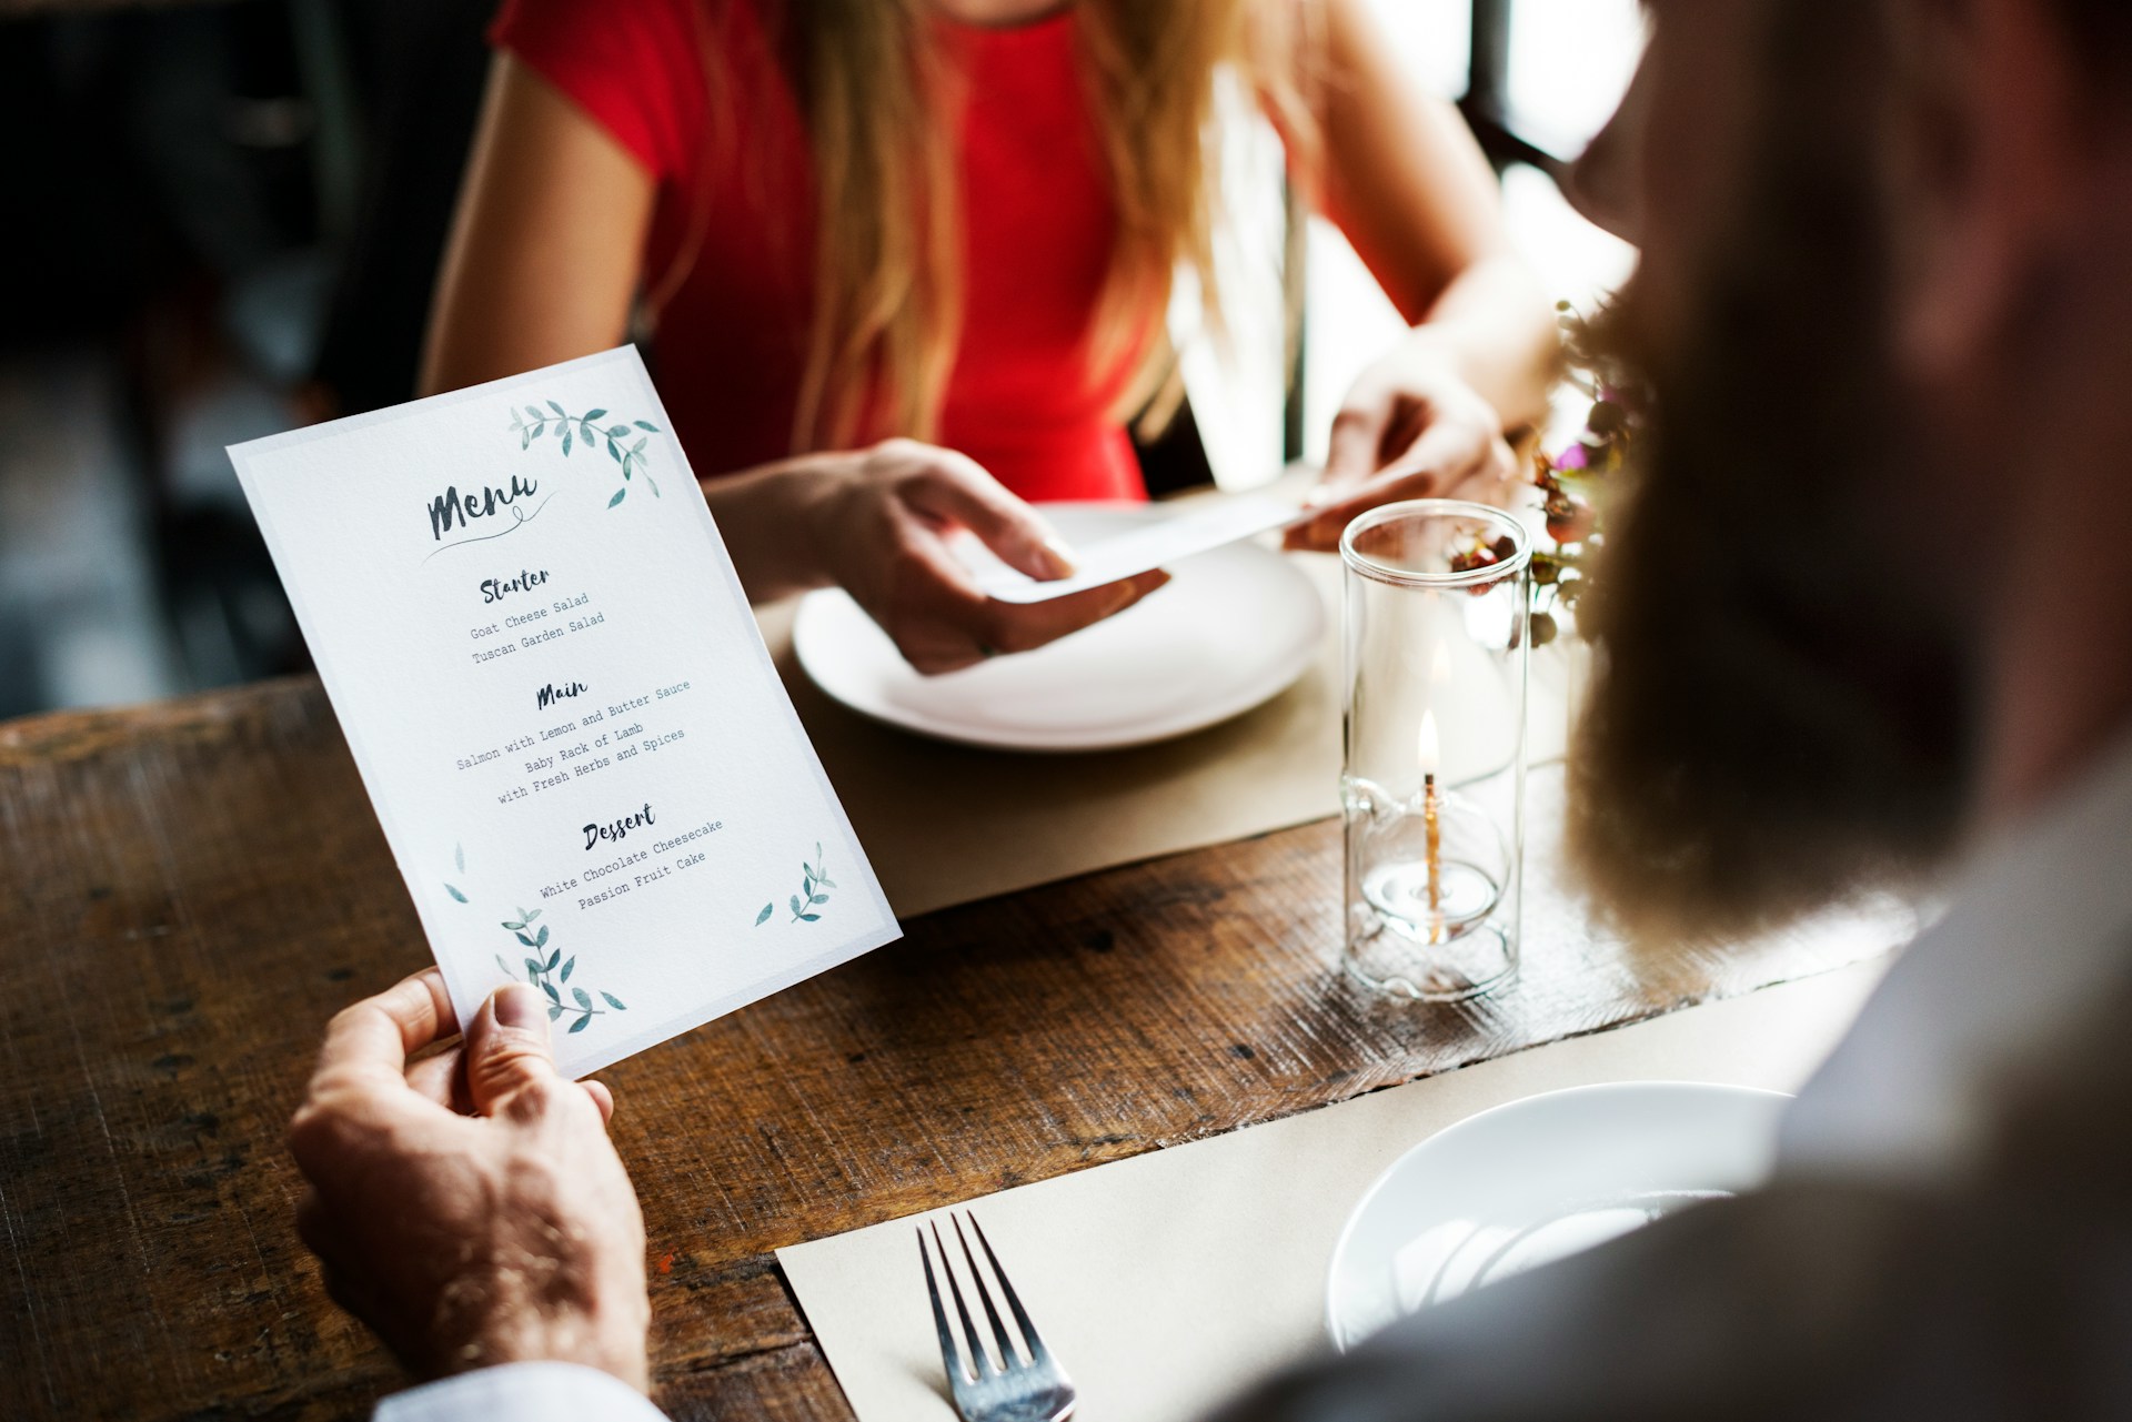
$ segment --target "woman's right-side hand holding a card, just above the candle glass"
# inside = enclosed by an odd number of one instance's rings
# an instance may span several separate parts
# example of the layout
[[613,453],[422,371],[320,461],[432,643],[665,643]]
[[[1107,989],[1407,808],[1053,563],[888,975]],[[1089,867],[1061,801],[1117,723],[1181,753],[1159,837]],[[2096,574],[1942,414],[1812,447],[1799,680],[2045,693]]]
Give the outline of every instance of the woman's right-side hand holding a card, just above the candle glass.
[[1495,503],[1518,475],[1503,420],[1443,358],[1414,333],[1362,371],[1332,420],[1324,480],[1311,492],[1320,510],[1288,531],[1290,548],[1332,552],[1347,524],[1399,499],[1477,499]]

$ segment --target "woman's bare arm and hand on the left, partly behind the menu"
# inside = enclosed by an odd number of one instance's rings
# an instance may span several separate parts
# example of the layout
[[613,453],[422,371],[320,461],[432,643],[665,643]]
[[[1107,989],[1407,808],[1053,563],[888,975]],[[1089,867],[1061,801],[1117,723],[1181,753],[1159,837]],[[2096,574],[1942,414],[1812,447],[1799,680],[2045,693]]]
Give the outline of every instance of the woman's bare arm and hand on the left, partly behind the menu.
[[[620,143],[499,55],[431,311],[424,394],[618,345],[655,196]],[[1049,524],[974,463],[904,439],[704,480],[701,490],[748,597],[840,584],[921,672],[1043,646],[1166,582],[1143,573],[1034,605],[987,599],[947,548],[955,529],[1032,578],[1062,578],[1072,563]]]

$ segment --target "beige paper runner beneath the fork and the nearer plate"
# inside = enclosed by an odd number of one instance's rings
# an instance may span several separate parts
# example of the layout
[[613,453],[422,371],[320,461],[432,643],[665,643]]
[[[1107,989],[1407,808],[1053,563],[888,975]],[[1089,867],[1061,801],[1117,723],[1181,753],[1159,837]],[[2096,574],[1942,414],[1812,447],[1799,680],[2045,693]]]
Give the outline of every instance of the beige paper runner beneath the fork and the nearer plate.
[[[1599,1081],[1797,1089],[1883,964],[1842,968],[974,1205],[1089,1422],[1190,1422],[1324,1347],[1332,1245],[1375,1177],[1477,1111]],[[859,1422],[955,1422],[910,1219],[778,1251]]]

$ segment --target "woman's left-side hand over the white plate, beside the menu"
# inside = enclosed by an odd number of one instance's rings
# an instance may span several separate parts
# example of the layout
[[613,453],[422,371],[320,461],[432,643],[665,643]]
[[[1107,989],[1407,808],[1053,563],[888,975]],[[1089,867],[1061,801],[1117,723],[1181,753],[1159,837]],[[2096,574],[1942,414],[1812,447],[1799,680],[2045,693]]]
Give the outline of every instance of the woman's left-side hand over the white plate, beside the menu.
[[976,460],[915,439],[808,460],[806,471],[782,478],[814,480],[806,524],[825,578],[842,584],[927,676],[1034,650],[1124,612],[1170,580],[1141,573],[1028,605],[985,597],[949,548],[955,529],[1038,580],[1070,576],[1072,556],[1051,524]]

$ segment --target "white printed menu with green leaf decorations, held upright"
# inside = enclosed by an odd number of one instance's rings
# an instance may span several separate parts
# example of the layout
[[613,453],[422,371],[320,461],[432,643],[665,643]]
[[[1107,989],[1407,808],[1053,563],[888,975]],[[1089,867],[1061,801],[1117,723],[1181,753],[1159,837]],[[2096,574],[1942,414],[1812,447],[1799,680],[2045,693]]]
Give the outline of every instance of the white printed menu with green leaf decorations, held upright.
[[461,1021],[576,1077],[898,936],[667,431],[623,348],[230,450]]

